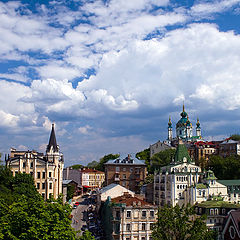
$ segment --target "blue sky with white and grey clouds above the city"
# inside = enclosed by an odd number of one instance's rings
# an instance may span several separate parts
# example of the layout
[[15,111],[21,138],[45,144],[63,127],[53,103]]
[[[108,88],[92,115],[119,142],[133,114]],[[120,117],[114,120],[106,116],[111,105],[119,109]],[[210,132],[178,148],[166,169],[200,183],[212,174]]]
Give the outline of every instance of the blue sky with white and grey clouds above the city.
[[240,133],[239,23],[240,0],[1,1],[0,152],[55,123],[65,166],[134,155],[183,102],[205,140]]

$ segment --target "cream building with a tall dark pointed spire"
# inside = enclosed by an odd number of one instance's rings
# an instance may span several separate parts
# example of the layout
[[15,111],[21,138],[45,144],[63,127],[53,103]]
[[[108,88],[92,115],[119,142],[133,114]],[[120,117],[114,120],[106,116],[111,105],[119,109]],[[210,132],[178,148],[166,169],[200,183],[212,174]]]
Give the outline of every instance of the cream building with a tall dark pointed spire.
[[46,148],[46,153],[32,151],[17,151],[12,148],[6,158],[13,176],[18,172],[31,174],[36,188],[44,199],[50,196],[57,198],[62,193],[63,154],[57,145],[54,124]]

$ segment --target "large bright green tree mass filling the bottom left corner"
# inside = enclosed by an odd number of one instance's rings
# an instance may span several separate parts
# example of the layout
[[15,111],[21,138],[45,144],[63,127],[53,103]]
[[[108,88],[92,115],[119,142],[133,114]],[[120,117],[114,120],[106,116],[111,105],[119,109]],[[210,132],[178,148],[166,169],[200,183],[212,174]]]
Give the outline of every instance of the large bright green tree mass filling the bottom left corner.
[[61,198],[45,202],[30,175],[10,173],[0,168],[0,240],[76,239],[70,206]]

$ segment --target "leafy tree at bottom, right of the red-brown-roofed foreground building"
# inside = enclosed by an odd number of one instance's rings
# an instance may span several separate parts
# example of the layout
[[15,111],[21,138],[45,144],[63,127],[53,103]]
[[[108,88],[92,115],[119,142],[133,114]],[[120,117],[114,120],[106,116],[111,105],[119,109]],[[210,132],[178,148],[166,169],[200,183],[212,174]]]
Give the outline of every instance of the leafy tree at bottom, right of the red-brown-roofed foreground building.
[[205,216],[197,217],[190,206],[159,208],[152,237],[154,240],[214,240],[216,233],[207,229],[205,219]]

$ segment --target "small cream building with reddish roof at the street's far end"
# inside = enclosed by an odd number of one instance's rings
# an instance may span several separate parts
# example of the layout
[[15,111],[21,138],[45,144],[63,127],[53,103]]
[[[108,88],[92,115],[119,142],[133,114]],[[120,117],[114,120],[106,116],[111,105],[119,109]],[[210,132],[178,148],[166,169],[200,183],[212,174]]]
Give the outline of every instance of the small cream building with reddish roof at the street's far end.
[[84,189],[101,188],[105,181],[105,173],[91,168],[83,168],[80,171],[80,181],[83,191]]

